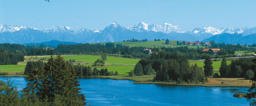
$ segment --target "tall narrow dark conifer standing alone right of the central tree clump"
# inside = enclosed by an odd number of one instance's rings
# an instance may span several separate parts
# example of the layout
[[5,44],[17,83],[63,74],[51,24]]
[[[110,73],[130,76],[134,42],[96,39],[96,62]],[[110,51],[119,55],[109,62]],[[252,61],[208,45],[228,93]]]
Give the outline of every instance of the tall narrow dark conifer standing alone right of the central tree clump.
[[205,60],[204,60],[204,75],[205,76],[211,76],[213,73],[213,67],[212,67],[212,57],[209,56],[208,54],[205,55]]

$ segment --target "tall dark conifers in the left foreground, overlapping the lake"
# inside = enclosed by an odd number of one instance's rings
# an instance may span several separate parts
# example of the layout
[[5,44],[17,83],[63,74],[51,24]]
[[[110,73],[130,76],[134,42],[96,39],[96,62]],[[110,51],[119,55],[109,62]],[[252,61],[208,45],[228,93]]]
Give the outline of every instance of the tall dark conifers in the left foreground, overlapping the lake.
[[23,89],[23,98],[38,98],[51,105],[84,105],[85,97],[80,93],[79,81],[72,65],[59,55],[52,56],[44,68],[36,68],[26,76],[27,86]]

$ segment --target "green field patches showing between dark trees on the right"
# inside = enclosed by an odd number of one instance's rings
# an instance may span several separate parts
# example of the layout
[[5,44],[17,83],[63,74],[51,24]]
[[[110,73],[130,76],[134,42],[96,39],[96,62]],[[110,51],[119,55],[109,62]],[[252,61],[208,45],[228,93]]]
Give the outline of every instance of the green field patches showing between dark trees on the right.
[[[190,65],[195,65],[195,63],[198,65],[198,67],[204,67],[204,61],[190,61]],[[231,61],[227,61],[227,64],[230,64]],[[221,67],[221,61],[212,61],[212,67],[214,70],[219,70]]]

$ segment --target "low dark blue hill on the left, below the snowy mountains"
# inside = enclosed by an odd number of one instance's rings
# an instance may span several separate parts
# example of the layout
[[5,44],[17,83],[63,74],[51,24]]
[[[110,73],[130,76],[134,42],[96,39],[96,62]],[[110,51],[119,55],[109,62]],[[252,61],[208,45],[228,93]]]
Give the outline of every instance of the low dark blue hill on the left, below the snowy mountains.
[[76,42],[62,42],[58,40],[51,40],[49,42],[41,42],[41,43],[26,43],[23,45],[41,45],[44,44],[45,47],[50,46],[50,47],[58,47],[59,44],[65,44],[65,45],[72,45],[72,44],[80,44]]

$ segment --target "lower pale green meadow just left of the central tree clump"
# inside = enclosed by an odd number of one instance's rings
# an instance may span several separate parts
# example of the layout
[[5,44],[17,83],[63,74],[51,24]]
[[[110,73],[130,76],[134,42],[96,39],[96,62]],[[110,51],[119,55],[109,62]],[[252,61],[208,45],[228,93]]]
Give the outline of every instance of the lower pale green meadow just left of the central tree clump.
[[101,67],[97,67],[98,70],[102,68],[107,68],[108,72],[113,71],[114,73],[117,71],[119,75],[128,75],[131,70],[134,70],[134,65],[105,65]]

